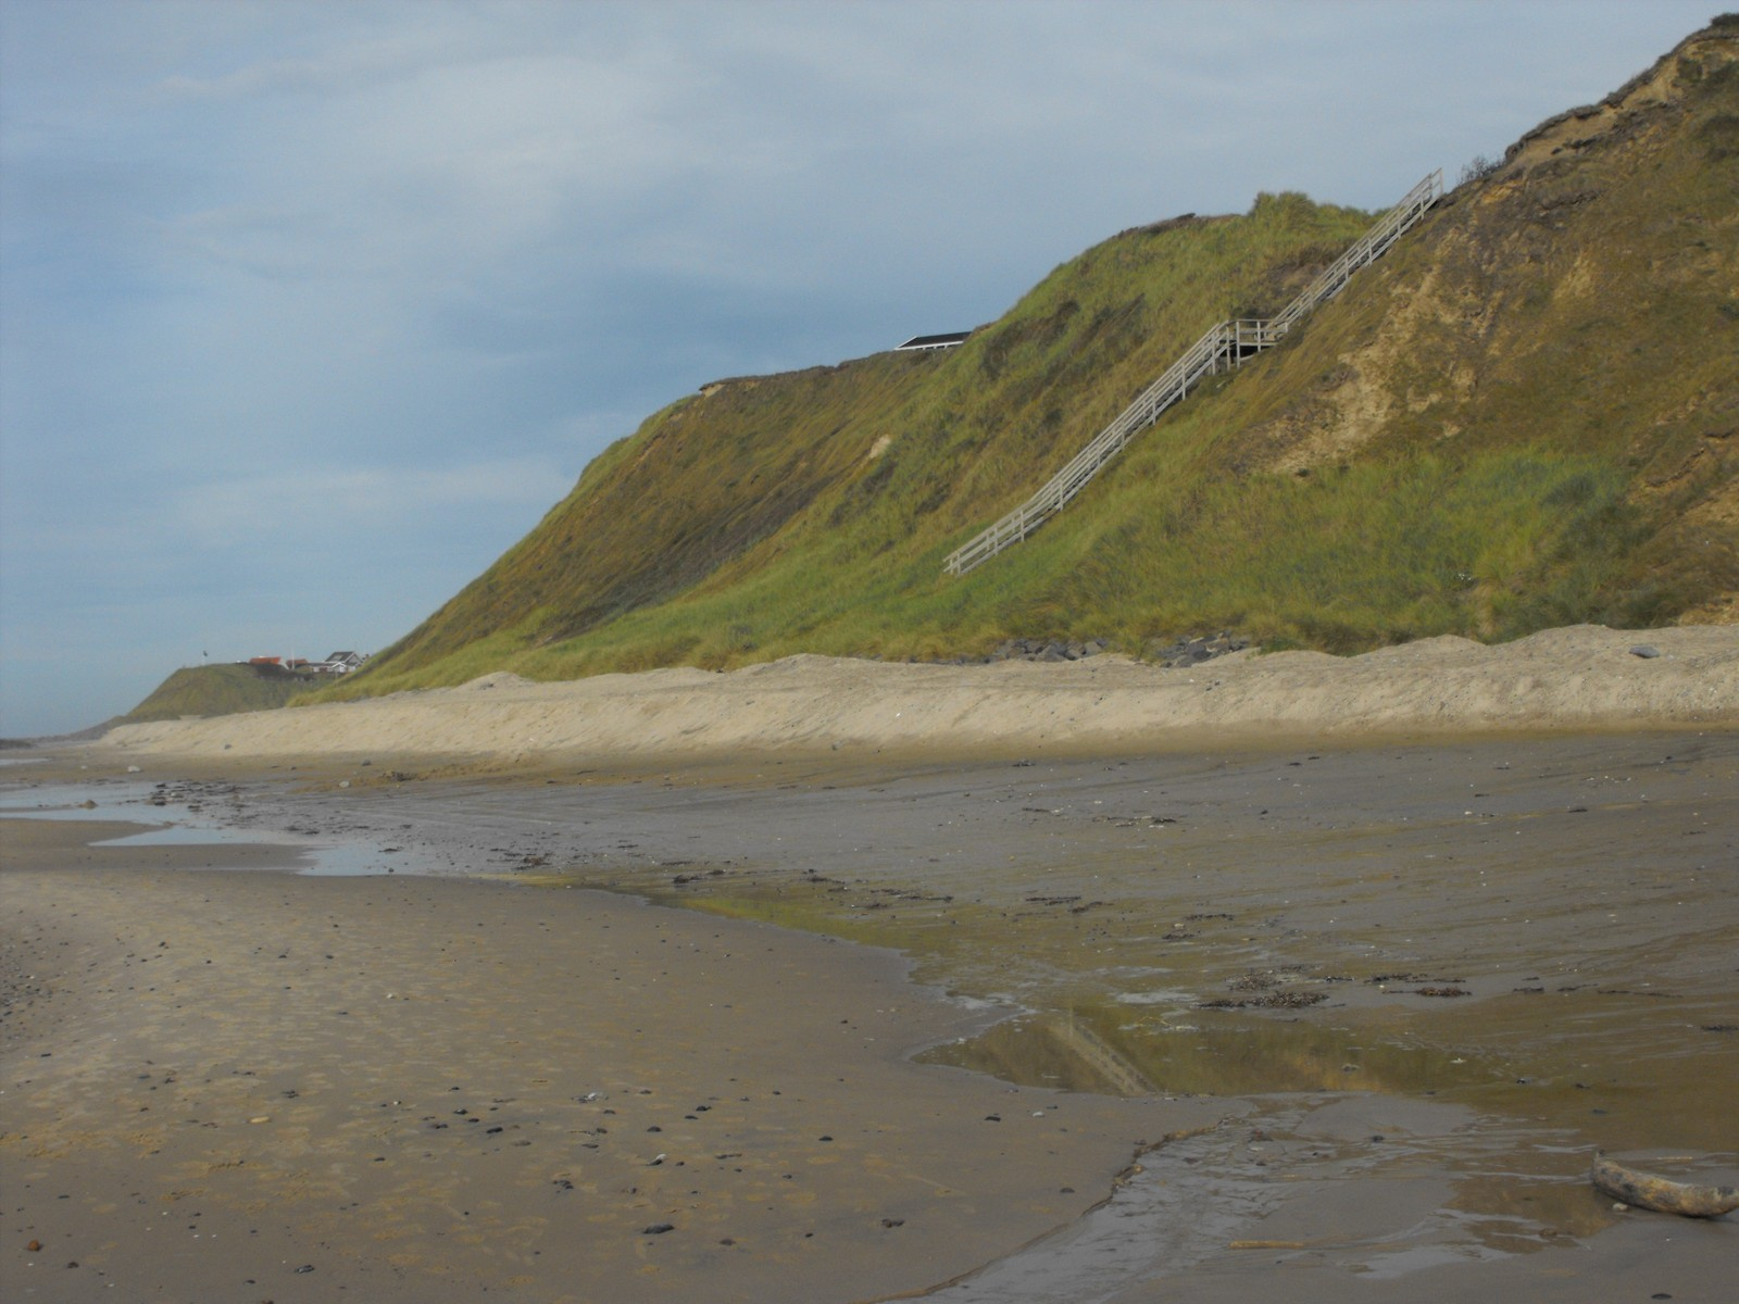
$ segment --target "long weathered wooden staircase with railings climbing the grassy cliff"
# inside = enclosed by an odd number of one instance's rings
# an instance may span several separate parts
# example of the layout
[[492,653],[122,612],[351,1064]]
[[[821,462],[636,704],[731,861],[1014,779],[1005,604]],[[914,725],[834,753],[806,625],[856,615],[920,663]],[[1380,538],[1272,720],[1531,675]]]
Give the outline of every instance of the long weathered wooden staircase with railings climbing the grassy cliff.
[[1045,487],[1033,494],[995,525],[981,532],[970,542],[956,548],[943,562],[943,570],[949,575],[963,575],[972,567],[983,565],[1003,548],[1021,542],[1028,534],[1043,525],[1045,520],[1063,511],[1069,499],[1087,487],[1099,471],[1116,454],[1123,450],[1136,435],[1151,426],[1160,416],[1181,403],[1191,386],[1202,377],[1216,372],[1229,372],[1245,358],[1256,356],[1285,339],[1306,313],[1316,304],[1339,294],[1353,273],[1369,263],[1376,263],[1414,223],[1443,196],[1443,172],[1433,172],[1407,196],[1383,214],[1377,224],[1353,242],[1309,287],[1280,315],[1266,320],[1221,322],[1202,339],[1184,349],[1184,355],[1165,369],[1153,384],[1143,389],[1136,402],[1118,414],[1118,417],[1101,429],[1092,442],[1075,454],[1073,461],[1057,471]]

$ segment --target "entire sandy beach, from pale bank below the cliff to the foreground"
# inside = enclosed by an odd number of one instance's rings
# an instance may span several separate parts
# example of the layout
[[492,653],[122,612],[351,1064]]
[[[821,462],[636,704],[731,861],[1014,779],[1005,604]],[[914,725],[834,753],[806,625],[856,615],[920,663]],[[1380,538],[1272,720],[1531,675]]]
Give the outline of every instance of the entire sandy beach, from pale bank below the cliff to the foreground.
[[[1739,1175],[1739,633],[1523,642],[57,749],[14,803],[96,807],[0,826],[0,1281],[1725,1299],[1730,1217],[1586,1170]],[[170,821],[233,840],[90,845]],[[292,873],[327,845],[369,854]]]

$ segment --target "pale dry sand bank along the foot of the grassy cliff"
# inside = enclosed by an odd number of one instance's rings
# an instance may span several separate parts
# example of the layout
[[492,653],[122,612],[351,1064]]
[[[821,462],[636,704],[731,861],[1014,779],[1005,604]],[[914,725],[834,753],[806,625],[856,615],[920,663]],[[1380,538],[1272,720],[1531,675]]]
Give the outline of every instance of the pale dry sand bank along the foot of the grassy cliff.
[[511,763],[556,753],[1143,751],[1203,734],[1736,722],[1739,628],[1570,626],[1496,647],[1445,636],[1358,657],[1249,650],[1174,669],[1118,655],[988,666],[798,655],[729,673],[678,668],[562,683],[497,673],[362,702],[122,725],[106,746],[141,756]]

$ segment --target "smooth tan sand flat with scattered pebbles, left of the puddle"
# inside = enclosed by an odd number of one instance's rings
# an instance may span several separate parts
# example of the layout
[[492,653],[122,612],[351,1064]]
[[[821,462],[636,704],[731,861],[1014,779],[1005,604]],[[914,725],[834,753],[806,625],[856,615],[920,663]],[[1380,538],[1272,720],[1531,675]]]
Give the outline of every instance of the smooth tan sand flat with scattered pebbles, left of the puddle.
[[9,1299],[880,1297],[1224,1113],[915,1066],[974,1015],[868,948],[94,831],[5,824]]

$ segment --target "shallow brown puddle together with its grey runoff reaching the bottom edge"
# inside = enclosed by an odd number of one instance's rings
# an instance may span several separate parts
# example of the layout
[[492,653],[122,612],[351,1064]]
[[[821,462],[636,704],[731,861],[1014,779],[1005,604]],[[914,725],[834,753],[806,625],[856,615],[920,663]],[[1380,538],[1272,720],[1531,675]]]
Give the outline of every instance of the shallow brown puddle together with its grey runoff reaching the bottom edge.
[[[1247,1118],[1228,1125],[1242,1127],[1236,1137],[1167,1144],[1080,1227],[936,1299],[1090,1299],[1099,1285],[1115,1294],[1155,1264],[1172,1273],[1245,1240],[1297,1241],[1296,1255],[1280,1252],[1289,1264],[1339,1264],[1369,1280],[1534,1254],[1614,1221],[1588,1184],[1595,1144],[1626,1149],[1666,1134],[1690,1149],[1732,1144],[1729,1106],[1713,1099],[1730,1094],[1729,1043],[1718,1031],[1685,1036],[1685,1021],[1736,1022],[1720,1001],[1675,1003],[1662,1019],[1661,1000],[1565,984],[1551,996],[1536,988],[1391,1003],[1372,967],[1287,967],[1250,941],[1250,925],[1139,901],[1096,918],[993,899],[866,908],[873,887],[737,868],[704,892],[647,871],[579,878],[894,946],[920,981],[1023,1010],[925,1050],[923,1062],[1054,1090],[1209,1095],[1240,1109],[1261,1101],[1263,1127]],[[1442,974],[1447,986],[1461,970]],[[1257,1000],[1292,993],[1320,995],[1308,1014]],[[1205,1007],[1219,996],[1247,1007]],[[1662,1076],[1666,1062],[1675,1071]],[[1325,1130],[1336,1101],[1348,1108]],[[1438,1121],[1409,1123],[1409,1111]]]

